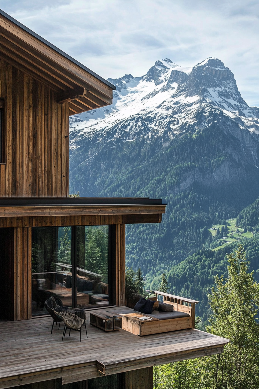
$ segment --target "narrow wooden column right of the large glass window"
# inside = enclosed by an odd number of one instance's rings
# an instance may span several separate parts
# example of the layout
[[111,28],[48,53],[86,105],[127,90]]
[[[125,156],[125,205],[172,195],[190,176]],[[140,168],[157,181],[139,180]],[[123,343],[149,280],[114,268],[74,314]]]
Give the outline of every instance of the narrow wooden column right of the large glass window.
[[125,224],[116,224],[116,305],[125,305]]

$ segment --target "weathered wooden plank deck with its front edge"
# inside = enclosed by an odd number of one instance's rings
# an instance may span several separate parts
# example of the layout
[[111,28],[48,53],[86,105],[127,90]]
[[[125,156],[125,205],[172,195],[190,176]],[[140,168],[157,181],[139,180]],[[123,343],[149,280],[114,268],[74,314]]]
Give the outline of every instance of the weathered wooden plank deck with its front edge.
[[[112,308],[116,310],[118,308]],[[0,389],[62,378],[63,384],[136,370],[194,357],[218,354],[227,339],[197,329],[136,336],[119,330],[104,332],[87,322],[61,342],[63,326],[42,317],[0,322]]]

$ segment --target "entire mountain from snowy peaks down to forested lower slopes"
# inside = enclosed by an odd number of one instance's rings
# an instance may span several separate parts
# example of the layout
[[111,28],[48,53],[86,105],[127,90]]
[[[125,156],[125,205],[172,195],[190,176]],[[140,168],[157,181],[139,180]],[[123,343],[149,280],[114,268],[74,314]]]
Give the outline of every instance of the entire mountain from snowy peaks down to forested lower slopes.
[[249,205],[259,196],[259,111],[216,58],[188,69],[161,60],[143,77],[109,81],[111,107],[71,118],[70,192],[162,198],[161,224],[127,226],[127,265],[147,288],[165,272],[171,291],[202,300],[228,250],[203,251],[209,228],[238,215],[240,226],[258,224]]

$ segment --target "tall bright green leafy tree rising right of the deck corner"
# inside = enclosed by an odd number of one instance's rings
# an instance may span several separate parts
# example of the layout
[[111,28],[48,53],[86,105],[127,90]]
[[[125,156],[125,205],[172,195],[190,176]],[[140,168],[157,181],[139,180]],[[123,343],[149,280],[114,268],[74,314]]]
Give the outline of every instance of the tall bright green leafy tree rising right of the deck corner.
[[216,277],[209,296],[213,315],[207,331],[230,339],[224,353],[211,357],[215,388],[259,387],[259,286],[239,245],[228,256],[228,278]]

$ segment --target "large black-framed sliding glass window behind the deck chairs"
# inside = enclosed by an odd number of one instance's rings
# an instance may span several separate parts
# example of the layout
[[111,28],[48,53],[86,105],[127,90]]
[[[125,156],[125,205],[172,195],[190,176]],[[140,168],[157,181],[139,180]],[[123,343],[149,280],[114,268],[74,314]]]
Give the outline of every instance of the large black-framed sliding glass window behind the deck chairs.
[[109,303],[109,226],[32,228],[32,315],[44,302],[90,308]]

